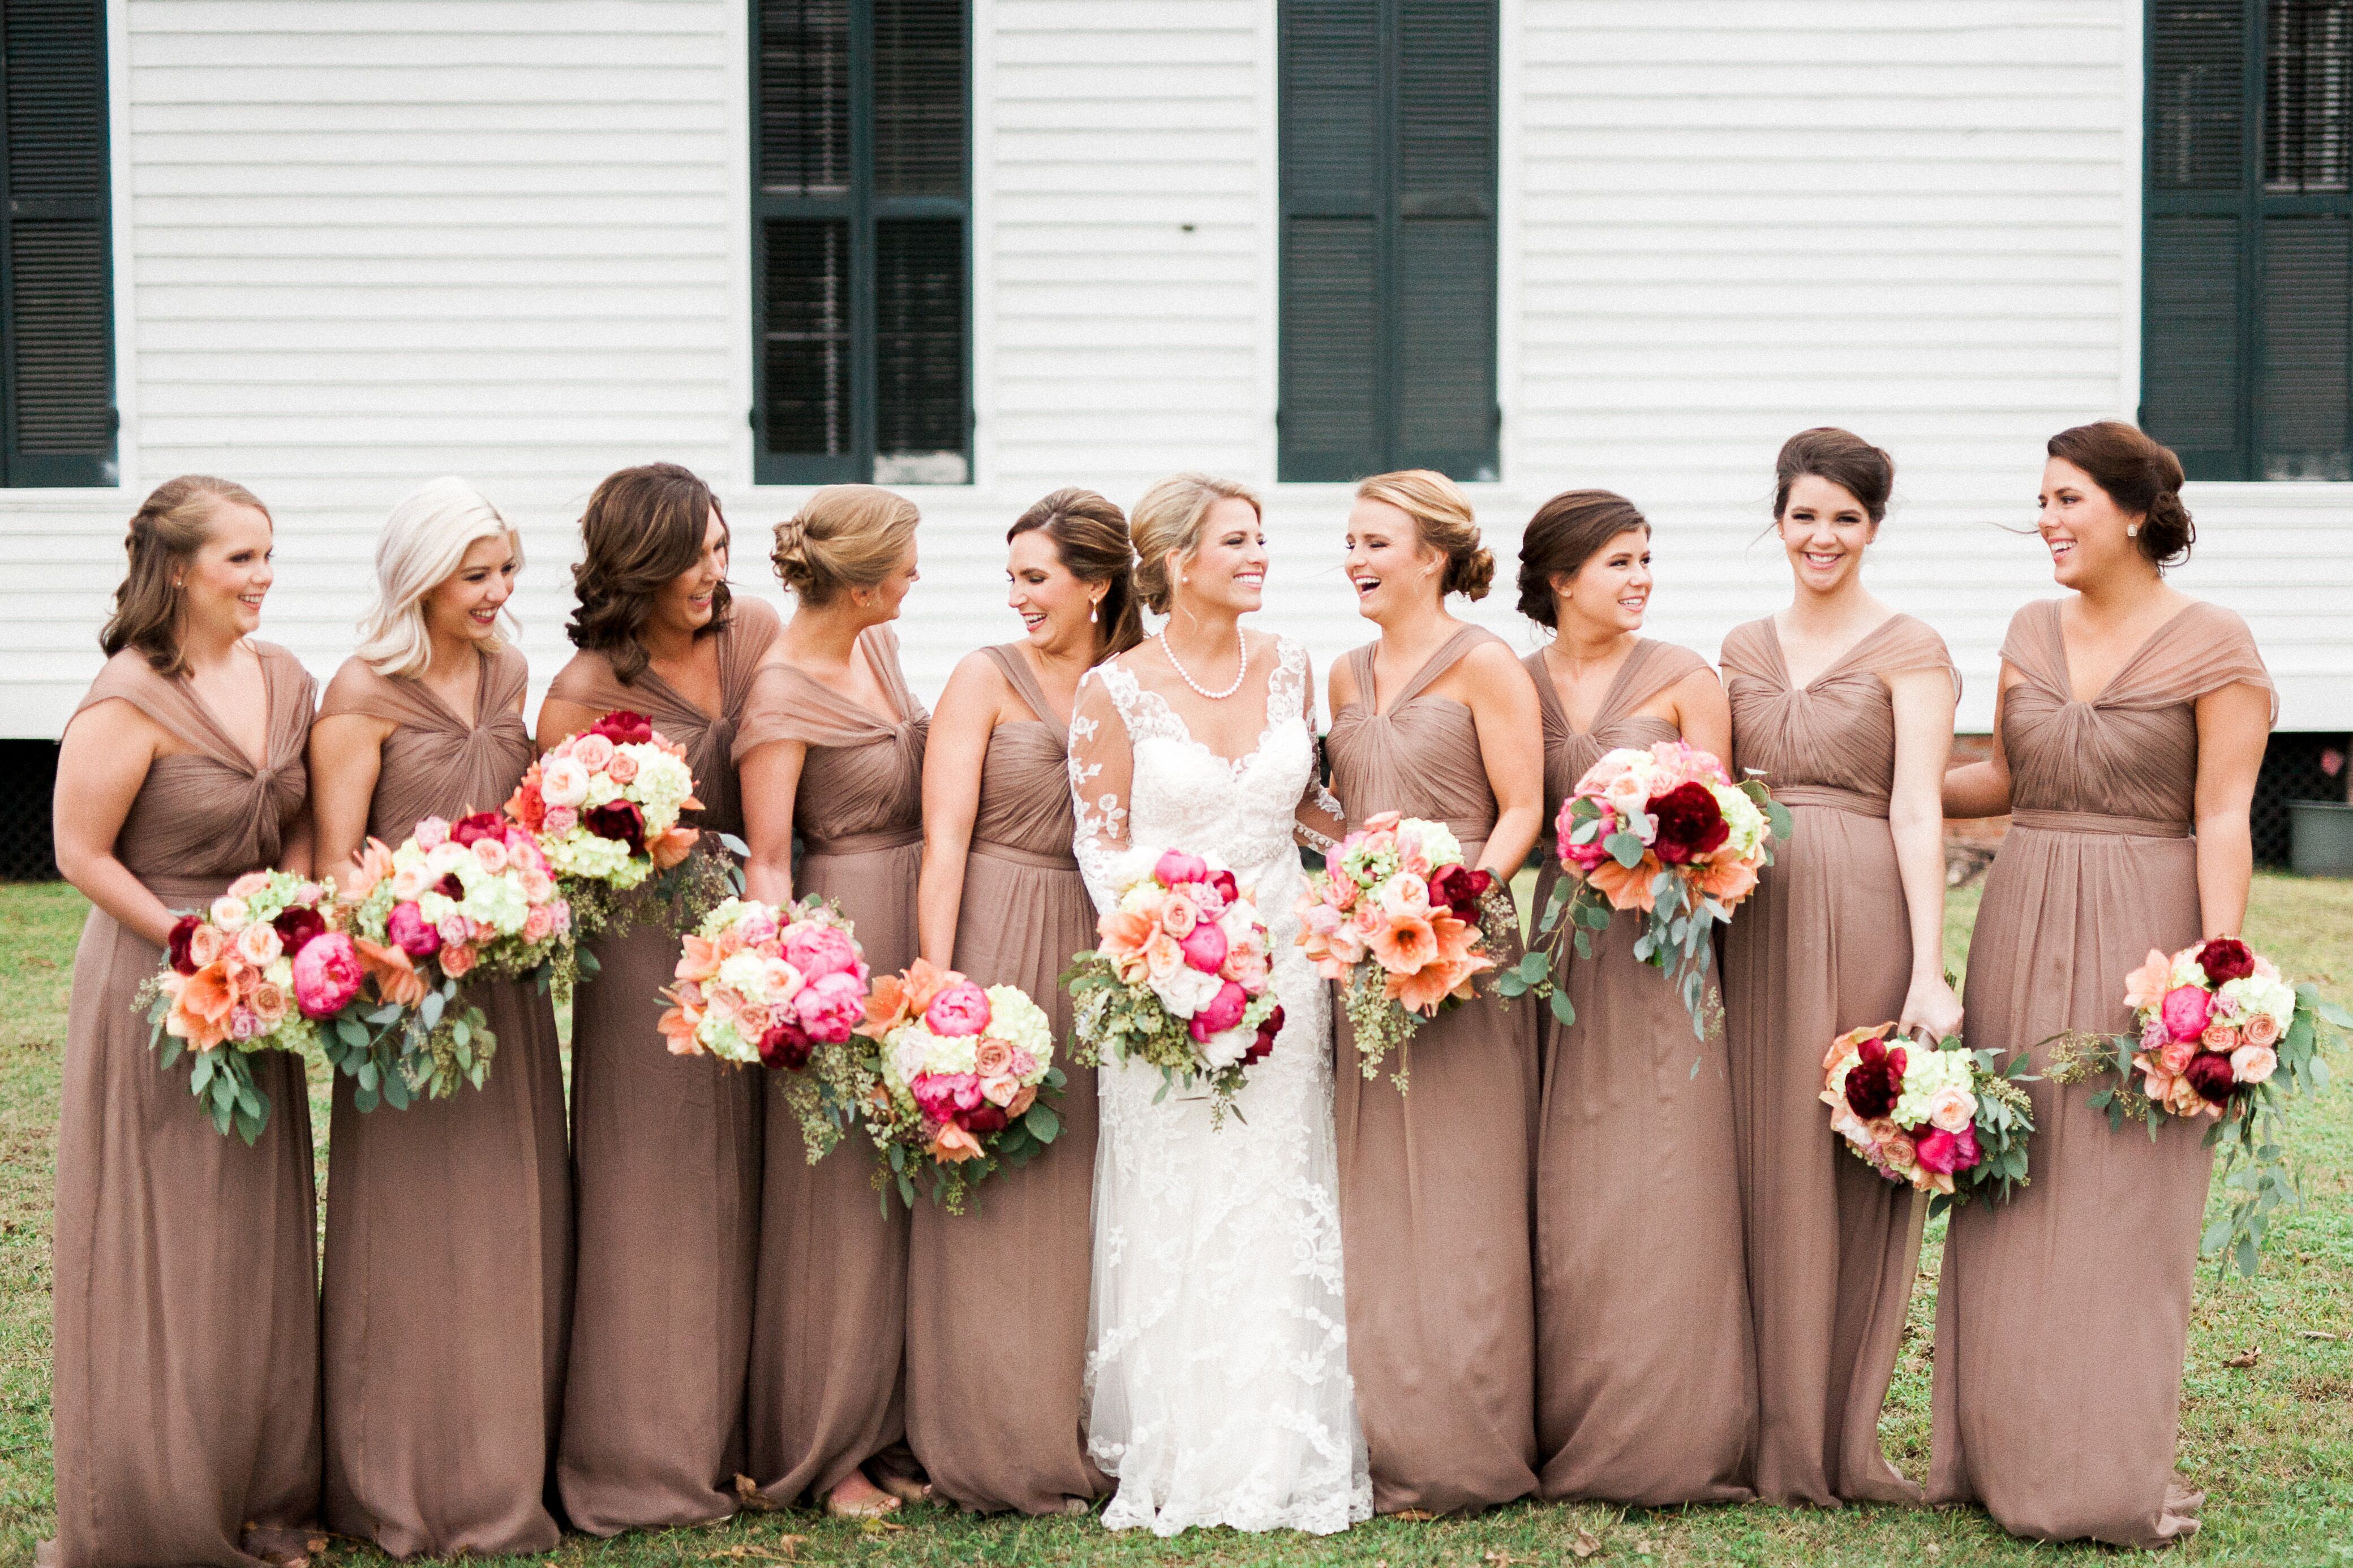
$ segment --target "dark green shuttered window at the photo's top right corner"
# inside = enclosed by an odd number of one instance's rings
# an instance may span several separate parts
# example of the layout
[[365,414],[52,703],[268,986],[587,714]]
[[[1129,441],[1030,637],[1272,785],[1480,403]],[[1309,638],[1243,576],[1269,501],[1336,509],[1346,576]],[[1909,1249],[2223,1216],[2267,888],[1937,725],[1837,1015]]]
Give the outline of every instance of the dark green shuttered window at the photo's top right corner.
[[2153,0],[2141,425],[2193,480],[2353,480],[2353,0]]

